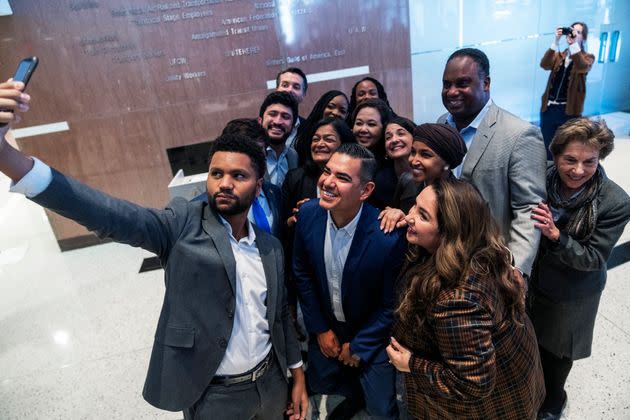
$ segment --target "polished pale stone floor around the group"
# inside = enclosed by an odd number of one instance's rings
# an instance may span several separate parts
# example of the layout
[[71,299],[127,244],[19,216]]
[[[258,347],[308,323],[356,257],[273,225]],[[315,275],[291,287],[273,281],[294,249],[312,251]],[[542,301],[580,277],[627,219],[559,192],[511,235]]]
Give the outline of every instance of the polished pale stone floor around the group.
[[[618,140],[604,166],[630,191],[630,116],[606,120]],[[0,178],[0,418],[181,419],[141,395],[164,293],[161,270],[138,274],[150,254],[118,244],[61,253],[43,210],[8,183]],[[629,263],[609,271],[566,419],[630,418],[629,280]]]

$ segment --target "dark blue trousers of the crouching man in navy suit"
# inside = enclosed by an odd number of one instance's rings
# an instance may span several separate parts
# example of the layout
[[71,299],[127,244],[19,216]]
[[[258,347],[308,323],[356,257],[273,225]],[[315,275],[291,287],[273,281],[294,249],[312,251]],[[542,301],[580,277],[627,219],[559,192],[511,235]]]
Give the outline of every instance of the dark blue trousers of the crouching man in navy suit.
[[[333,330],[341,343],[349,341],[339,328]],[[358,368],[345,366],[337,359],[324,356],[317,337],[313,336],[309,340],[306,371],[309,391],[363,398],[370,418],[397,419],[396,370],[386,356],[376,359],[371,363],[362,361]]]

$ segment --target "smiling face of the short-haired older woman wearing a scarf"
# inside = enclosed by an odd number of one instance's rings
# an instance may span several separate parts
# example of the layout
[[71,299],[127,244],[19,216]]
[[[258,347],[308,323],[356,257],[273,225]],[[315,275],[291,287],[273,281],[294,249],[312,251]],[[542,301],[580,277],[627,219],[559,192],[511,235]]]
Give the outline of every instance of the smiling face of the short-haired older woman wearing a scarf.
[[559,156],[554,156],[562,189],[567,195],[578,192],[597,171],[599,150],[579,140],[566,144]]

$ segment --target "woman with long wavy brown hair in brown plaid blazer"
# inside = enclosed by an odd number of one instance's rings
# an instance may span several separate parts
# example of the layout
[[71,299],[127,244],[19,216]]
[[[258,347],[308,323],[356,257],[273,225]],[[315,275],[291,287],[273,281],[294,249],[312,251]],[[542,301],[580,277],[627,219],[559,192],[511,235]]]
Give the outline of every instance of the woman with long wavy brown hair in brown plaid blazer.
[[414,418],[534,419],[545,387],[525,286],[471,185],[438,179],[407,216],[391,363]]

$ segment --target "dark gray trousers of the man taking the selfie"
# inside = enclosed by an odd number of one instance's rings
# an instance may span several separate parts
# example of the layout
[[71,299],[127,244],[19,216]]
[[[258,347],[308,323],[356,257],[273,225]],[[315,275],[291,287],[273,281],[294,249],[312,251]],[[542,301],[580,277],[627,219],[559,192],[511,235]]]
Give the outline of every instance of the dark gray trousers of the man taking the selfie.
[[287,395],[287,381],[273,363],[256,382],[210,384],[199,401],[184,410],[184,420],[282,419]]

